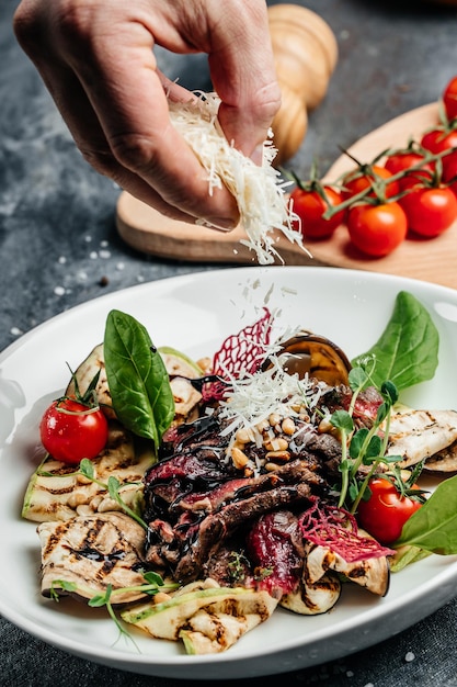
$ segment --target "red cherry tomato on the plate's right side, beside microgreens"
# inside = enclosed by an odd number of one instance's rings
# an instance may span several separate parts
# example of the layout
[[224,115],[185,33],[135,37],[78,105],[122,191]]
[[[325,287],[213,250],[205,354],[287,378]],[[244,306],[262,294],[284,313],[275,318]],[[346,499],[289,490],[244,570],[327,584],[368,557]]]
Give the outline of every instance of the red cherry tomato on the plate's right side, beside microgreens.
[[358,525],[381,544],[391,544],[400,537],[404,522],[419,510],[422,503],[410,496],[402,496],[396,485],[385,477],[370,480],[369,491],[368,500],[361,500],[358,504]]

